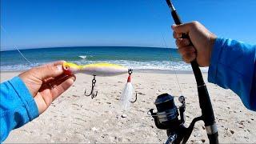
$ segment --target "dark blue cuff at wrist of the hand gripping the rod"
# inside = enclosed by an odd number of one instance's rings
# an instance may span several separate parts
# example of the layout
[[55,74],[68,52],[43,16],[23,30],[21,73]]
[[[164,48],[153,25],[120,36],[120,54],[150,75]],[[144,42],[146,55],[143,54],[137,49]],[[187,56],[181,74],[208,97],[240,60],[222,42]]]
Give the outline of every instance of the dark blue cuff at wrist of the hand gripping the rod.
[[222,47],[225,43],[225,38],[216,38],[214,47],[211,53],[210,66],[208,70],[208,82],[216,83],[216,76],[218,70],[218,59],[222,53]]

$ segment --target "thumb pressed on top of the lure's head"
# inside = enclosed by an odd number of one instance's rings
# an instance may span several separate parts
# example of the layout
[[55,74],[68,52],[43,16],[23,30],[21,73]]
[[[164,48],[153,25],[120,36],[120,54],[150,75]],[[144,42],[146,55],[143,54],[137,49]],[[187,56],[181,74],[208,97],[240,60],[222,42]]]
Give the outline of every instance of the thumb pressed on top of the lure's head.
[[62,70],[62,63],[64,61],[58,61],[49,63],[43,66],[38,66],[34,68],[34,73],[36,74],[37,78],[43,80],[46,78],[51,77],[58,77],[59,75],[63,74]]

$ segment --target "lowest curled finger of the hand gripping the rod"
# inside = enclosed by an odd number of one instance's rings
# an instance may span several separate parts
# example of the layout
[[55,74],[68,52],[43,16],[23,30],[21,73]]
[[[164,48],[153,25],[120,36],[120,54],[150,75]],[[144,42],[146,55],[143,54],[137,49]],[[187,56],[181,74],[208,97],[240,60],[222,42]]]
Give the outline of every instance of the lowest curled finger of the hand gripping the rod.
[[182,58],[186,63],[192,62],[196,58],[194,46],[180,47],[178,52],[182,54]]

